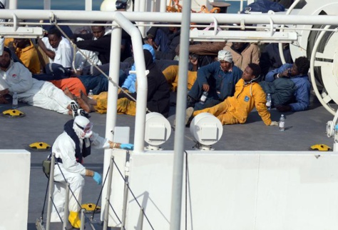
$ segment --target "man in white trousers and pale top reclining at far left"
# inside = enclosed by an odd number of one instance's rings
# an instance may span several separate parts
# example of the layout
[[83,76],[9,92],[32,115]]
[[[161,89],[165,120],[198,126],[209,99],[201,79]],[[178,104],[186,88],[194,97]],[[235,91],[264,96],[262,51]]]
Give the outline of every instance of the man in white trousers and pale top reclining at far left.
[[23,64],[11,60],[7,47],[0,56],[0,89],[1,103],[6,103],[4,95],[16,92],[19,101],[61,114],[72,114],[71,103],[76,104],[50,82],[33,79]]

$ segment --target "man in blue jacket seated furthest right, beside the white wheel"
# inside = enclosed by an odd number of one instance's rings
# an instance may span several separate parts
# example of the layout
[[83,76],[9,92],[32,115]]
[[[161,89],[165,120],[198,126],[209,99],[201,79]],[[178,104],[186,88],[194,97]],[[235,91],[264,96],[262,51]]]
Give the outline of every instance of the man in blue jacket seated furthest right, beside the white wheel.
[[287,105],[276,105],[278,111],[303,111],[309,109],[309,95],[311,84],[309,82],[309,59],[299,56],[294,64],[284,64],[280,68],[267,73],[265,81],[275,81],[287,78],[295,83],[295,93],[292,102]]

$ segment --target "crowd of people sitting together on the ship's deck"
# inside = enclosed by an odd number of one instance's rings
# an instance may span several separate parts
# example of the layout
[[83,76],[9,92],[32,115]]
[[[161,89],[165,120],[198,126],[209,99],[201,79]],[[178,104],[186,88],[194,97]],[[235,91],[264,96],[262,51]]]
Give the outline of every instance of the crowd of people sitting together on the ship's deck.
[[[69,36],[80,49],[76,54],[71,42],[56,28],[36,44],[31,39],[5,39],[0,56],[0,103],[8,102],[6,94],[16,92],[21,102],[62,114],[73,114],[76,109],[106,113],[108,79],[101,71],[109,71],[111,30],[105,24],[95,21],[91,33],[86,29]],[[170,91],[178,86],[175,59],[179,56],[179,38],[180,29],[171,26],[152,27],[144,39],[145,67],[149,71],[147,108],[165,117],[169,115]],[[265,106],[268,93],[278,111],[308,109],[309,60],[298,57],[293,63],[289,46],[283,44],[283,49],[289,61],[284,65],[277,44],[268,44],[262,52],[257,44],[247,42],[190,44],[187,117],[208,111],[222,124],[245,123],[256,107],[265,124],[274,124]],[[120,58],[117,110],[135,115],[137,81],[135,74],[129,74],[135,65],[131,39],[125,31]],[[90,90],[94,96],[88,97]],[[201,104],[204,91],[208,96]]]

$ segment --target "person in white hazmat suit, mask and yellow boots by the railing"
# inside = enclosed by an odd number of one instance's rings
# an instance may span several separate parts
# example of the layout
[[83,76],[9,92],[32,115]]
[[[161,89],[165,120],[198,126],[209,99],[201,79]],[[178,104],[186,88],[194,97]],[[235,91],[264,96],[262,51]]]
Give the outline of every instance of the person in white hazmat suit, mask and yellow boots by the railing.
[[[54,168],[54,181],[56,183],[54,184],[53,201],[56,208],[53,207],[52,209],[51,221],[53,222],[63,219],[66,181],[68,181],[70,189],[73,191],[73,194],[71,192],[69,194],[68,221],[74,228],[80,228],[81,221],[78,212],[81,210],[79,204],[81,204],[81,194],[85,181],[83,176],[91,176],[97,184],[102,183],[101,174],[86,169],[81,164],[83,158],[91,154],[91,146],[96,149],[133,149],[133,144],[115,143],[98,136],[92,131],[92,127],[93,124],[85,116],[76,116],[75,119],[66,122],[63,133],[56,138],[53,144],[52,152],[55,153],[58,162],[58,165]],[[60,214],[61,219],[59,219],[56,211]]]

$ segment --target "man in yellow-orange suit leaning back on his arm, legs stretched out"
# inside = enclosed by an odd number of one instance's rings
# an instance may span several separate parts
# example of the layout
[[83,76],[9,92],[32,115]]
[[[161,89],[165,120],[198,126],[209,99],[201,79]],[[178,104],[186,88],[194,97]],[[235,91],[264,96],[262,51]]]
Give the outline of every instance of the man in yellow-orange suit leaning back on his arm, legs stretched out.
[[260,66],[248,64],[242,74],[242,79],[236,84],[234,96],[229,96],[222,103],[208,109],[194,111],[193,107],[187,109],[185,124],[187,125],[192,116],[200,113],[210,113],[224,124],[244,124],[250,111],[256,107],[258,114],[267,126],[277,126],[278,122],[271,121],[270,112],[267,111],[265,92],[255,82],[260,76]]

